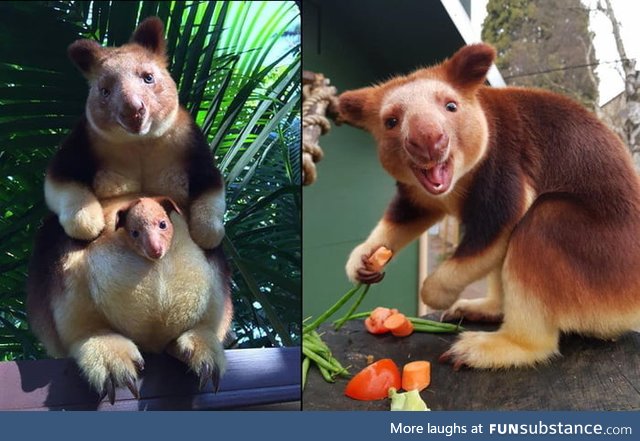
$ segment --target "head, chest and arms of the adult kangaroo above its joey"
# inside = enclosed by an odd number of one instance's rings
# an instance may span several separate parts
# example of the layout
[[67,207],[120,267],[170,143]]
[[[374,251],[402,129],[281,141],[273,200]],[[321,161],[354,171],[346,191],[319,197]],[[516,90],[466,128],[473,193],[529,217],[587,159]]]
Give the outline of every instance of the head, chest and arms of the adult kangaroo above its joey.
[[204,249],[224,236],[222,176],[200,129],[179,106],[165,45],[162,22],[148,18],[123,46],[79,40],[69,47],[89,96],[85,117],[49,166],[45,197],[73,238],[93,240],[104,228],[98,199],[134,193],[175,200]]

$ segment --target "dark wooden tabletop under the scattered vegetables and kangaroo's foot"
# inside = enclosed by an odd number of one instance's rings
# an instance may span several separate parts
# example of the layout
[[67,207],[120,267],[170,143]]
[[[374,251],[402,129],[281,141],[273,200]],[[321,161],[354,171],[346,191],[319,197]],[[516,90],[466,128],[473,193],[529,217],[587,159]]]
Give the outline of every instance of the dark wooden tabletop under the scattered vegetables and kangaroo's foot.
[[[467,329],[495,326],[467,324]],[[414,333],[410,337],[375,336],[362,321],[337,333],[327,327],[324,341],[350,372],[366,366],[367,355],[391,358],[398,367],[414,360],[431,362],[431,385],[421,395],[432,410],[638,410],[640,409],[640,334],[615,342],[565,336],[562,356],[527,369],[479,371],[438,363],[453,335]],[[326,383],[312,367],[302,405],[305,410],[388,410],[389,401],[356,401],[343,395],[346,379]]]

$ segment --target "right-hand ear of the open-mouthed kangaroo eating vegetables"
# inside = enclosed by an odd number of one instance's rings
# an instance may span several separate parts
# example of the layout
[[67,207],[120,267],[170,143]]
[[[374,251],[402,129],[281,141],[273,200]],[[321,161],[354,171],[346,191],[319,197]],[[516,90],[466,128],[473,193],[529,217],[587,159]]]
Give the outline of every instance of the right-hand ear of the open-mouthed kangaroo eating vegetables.
[[487,72],[496,58],[492,46],[484,43],[464,46],[453,57],[445,61],[443,67],[447,79],[460,87],[479,87],[487,77]]

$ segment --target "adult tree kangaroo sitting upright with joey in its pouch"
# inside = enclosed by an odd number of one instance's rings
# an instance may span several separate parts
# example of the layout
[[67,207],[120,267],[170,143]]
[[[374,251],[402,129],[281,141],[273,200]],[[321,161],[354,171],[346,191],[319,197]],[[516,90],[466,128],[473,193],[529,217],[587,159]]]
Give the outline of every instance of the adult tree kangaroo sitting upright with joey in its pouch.
[[[105,48],[90,40],[69,46],[71,60],[89,81],[89,96],[84,117],[47,170],[45,199],[56,218],[38,233],[29,268],[27,312],[34,333],[50,355],[75,358],[111,401],[115,387],[135,383],[138,346],[170,352],[201,384],[212,379],[215,388],[225,367],[220,336],[229,328],[231,301],[219,246],[224,184],[203,134],[178,103],[165,47],[155,17],[141,22],[123,46]],[[170,198],[173,212],[184,213],[177,237],[154,232],[153,243],[130,241],[125,247],[119,237],[126,228],[109,227],[113,216],[105,204],[138,194]],[[153,206],[131,210],[147,205]],[[149,226],[158,213],[156,206],[128,222]],[[173,228],[165,217],[165,227]],[[162,258],[165,253],[173,257]],[[122,265],[134,260],[138,264]]]

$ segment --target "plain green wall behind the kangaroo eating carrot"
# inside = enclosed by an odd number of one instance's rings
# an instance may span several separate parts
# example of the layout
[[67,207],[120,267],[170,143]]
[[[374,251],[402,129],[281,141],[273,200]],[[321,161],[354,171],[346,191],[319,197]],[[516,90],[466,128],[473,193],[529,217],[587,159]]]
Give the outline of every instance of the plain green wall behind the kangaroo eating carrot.
[[[388,77],[352,43],[339,23],[305,4],[303,66],[321,72],[339,91]],[[322,28],[319,29],[319,26]],[[303,311],[318,315],[350,287],[344,266],[382,216],[395,184],[378,162],[373,138],[350,126],[333,126],[320,140],[324,159],[318,180],[304,188]],[[384,281],[374,285],[360,310],[392,306],[417,311],[418,248],[413,243],[389,264]]]

